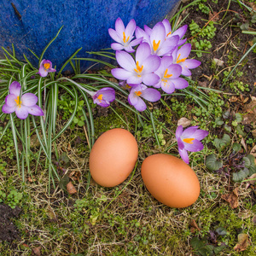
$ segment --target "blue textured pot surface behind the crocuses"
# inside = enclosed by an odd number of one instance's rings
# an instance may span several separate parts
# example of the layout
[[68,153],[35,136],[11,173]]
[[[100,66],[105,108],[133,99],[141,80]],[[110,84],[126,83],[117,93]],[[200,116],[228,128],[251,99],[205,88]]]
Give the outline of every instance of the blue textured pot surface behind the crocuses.
[[[15,45],[16,56],[23,54],[35,67],[38,60],[32,53],[40,55],[49,41],[63,26],[59,37],[44,54],[57,69],[82,47],[79,57],[87,57],[86,51],[110,47],[113,40],[108,28],[114,29],[120,17],[125,26],[135,19],[137,26],[154,26],[170,13],[178,0],[0,0],[0,46],[11,49]],[[13,3],[13,4],[11,4]],[[16,10],[16,11],[15,11]],[[3,50],[0,49],[3,56]],[[91,63],[90,63],[91,64]],[[81,67],[89,67],[81,63]],[[70,70],[71,67],[69,67]]]

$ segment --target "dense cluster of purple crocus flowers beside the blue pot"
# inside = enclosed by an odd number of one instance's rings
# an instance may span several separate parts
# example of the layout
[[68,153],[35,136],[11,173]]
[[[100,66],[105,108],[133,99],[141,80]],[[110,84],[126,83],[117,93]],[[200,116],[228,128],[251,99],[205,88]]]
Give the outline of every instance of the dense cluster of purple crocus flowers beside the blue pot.
[[[112,69],[113,77],[130,90],[128,102],[138,111],[147,108],[143,99],[148,102],[160,100],[159,88],[167,94],[186,88],[189,83],[180,76],[190,76],[189,69],[201,65],[200,61],[188,59],[191,44],[184,44],[186,39],[183,39],[187,27],[185,25],[172,32],[169,20],[165,19],[153,28],[144,26],[143,30],[136,26],[135,20],[125,27],[118,18],[115,30],[108,29],[116,42],[111,47],[116,50],[120,66]],[[136,52],[134,47],[137,47]],[[134,56],[131,55],[133,52]]]

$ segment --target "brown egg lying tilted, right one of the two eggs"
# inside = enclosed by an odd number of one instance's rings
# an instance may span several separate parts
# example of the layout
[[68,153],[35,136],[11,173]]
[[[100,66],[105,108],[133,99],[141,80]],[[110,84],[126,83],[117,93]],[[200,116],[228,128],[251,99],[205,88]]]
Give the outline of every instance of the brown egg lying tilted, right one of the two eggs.
[[189,207],[200,195],[195,172],[170,154],[148,156],[143,160],[141,173],[149,193],[168,207]]

